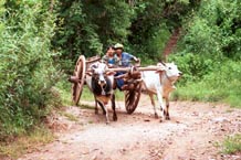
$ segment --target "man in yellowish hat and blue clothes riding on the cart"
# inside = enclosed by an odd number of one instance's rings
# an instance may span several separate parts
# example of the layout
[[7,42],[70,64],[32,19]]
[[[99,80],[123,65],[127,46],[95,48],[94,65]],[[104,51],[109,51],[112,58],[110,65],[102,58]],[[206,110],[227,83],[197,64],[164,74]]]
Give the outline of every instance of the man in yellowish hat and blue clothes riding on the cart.
[[[128,67],[132,65],[132,63],[130,63],[132,61],[139,62],[139,60],[136,56],[124,52],[123,44],[117,43],[114,45],[114,49],[115,49],[115,53],[116,53],[115,56],[117,56],[117,58],[118,58],[118,66]],[[115,76],[122,75],[125,72],[117,72],[117,74]],[[116,83],[117,83],[117,87],[120,90],[130,89],[133,87],[132,85],[128,85],[128,84],[124,85],[124,79],[122,79],[122,78],[117,79]]]

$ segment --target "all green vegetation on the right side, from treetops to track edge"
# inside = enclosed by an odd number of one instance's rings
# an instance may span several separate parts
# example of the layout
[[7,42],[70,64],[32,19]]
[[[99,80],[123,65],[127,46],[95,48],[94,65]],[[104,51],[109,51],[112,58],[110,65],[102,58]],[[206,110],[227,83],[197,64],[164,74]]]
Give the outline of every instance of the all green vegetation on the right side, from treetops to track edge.
[[169,57],[185,73],[175,98],[241,107],[240,9],[239,1],[202,1],[185,21],[178,53]]

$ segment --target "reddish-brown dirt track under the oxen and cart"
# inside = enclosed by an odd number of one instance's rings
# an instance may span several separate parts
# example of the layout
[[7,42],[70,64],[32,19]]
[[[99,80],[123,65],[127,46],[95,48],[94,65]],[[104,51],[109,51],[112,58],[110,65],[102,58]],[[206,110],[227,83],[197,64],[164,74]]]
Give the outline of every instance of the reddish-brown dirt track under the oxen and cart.
[[117,103],[118,121],[109,125],[101,110],[99,115],[80,107],[67,107],[65,111],[77,121],[55,116],[52,127],[57,130],[57,139],[19,160],[241,159],[240,153],[226,156],[217,147],[226,136],[241,132],[241,110],[226,105],[174,102],[171,120],[159,122],[150,100],[142,96],[133,115]]

